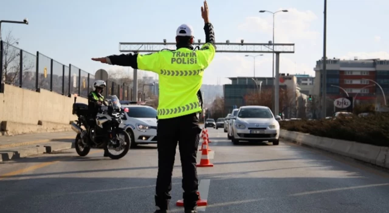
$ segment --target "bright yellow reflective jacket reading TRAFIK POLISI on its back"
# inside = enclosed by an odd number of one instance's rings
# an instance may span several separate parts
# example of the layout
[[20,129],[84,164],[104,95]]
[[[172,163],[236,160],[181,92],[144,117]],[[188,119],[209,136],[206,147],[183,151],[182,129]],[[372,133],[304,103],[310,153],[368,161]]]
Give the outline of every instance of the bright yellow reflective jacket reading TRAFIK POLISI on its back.
[[203,82],[204,70],[215,53],[215,47],[206,43],[195,51],[180,48],[138,55],[138,69],[159,76],[158,119],[201,112],[197,92]]

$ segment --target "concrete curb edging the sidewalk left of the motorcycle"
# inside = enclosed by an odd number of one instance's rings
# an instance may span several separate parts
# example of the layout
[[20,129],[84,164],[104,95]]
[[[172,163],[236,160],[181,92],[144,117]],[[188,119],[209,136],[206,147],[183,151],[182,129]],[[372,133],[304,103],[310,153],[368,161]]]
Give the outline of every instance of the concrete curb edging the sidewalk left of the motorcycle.
[[68,150],[71,148],[74,148],[74,143],[69,142],[51,142],[36,146],[19,146],[9,150],[0,150],[0,162],[25,158],[31,155],[52,153],[53,151]]

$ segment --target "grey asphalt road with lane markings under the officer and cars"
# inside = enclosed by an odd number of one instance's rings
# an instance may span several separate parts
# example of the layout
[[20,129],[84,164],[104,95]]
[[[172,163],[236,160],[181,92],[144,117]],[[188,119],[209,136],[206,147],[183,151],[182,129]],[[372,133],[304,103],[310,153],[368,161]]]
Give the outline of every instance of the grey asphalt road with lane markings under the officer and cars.
[[[223,129],[209,133],[214,167],[198,168],[200,195],[209,202],[200,212],[389,212],[388,173],[292,143],[233,146]],[[156,145],[121,160],[102,155],[78,157],[73,149],[0,164],[0,212],[153,212]],[[180,177],[177,150],[172,212],[183,212],[175,207]]]

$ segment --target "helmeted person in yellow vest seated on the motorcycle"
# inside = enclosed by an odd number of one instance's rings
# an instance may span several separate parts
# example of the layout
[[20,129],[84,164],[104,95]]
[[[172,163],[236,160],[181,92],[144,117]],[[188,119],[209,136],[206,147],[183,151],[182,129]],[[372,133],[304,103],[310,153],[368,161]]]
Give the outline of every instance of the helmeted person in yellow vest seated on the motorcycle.
[[[100,106],[104,104],[104,96],[102,95],[104,88],[107,87],[105,81],[96,80],[93,83],[93,91],[88,95],[88,111],[89,111],[89,129],[96,126],[96,115],[99,111]],[[104,152],[104,157],[108,157],[107,153]]]

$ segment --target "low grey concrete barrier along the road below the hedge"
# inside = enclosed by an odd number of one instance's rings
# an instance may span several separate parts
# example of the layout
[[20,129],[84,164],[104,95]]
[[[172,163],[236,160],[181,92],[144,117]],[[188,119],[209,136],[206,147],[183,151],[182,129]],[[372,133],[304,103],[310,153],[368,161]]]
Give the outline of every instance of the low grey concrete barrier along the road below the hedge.
[[389,148],[280,130],[280,137],[389,169]]

